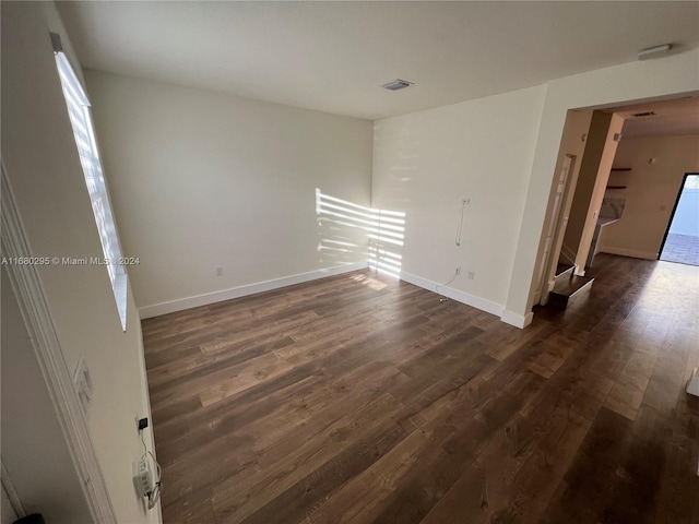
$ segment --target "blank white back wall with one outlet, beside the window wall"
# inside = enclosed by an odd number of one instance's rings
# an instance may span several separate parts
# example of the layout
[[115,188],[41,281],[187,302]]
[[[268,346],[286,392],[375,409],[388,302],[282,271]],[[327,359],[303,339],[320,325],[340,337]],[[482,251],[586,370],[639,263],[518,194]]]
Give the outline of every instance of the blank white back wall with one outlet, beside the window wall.
[[366,263],[360,229],[346,231],[352,252],[318,251],[316,189],[369,205],[371,122],[85,75],[122,248],[141,261],[130,276],[146,315],[203,294]]

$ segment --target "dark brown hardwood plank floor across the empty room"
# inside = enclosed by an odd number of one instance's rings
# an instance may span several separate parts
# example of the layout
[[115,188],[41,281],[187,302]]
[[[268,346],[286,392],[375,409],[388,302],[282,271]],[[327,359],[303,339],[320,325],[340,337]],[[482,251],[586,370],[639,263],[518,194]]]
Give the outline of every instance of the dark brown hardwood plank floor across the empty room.
[[165,524],[699,523],[699,267],[518,330],[369,271],[143,322]]

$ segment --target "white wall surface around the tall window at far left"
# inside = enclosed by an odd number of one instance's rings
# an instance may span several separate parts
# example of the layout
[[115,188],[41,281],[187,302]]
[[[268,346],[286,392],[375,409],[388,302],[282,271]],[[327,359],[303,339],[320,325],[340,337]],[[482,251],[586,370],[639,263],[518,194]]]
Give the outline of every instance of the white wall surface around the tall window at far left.
[[[49,31],[61,34],[75,64],[69,36],[52,3],[2,2],[1,9],[2,158],[33,254],[102,257]],[[68,369],[82,355],[92,373],[87,422],[117,521],[156,522],[131,480],[131,463],[143,452],[134,416],[150,412],[133,297],[129,291],[122,332],[105,266],[38,272]]]

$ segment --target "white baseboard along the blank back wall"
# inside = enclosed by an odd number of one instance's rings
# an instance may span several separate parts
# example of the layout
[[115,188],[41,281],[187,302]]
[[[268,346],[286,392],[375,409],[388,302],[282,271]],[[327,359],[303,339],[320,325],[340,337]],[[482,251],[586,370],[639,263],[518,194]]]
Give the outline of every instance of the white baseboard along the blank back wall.
[[280,287],[293,286],[294,284],[301,284],[304,282],[316,281],[318,278],[324,278],[327,276],[340,275],[342,273],[350,273],[352,271],[364,270],[366,267],[368,267],[368,262],[355,262],[354,264],[339,265],[335,267],[327,267],[324,270],[310,271],[308,273],[273,278],[271,281],[256,282],[254,284],[247,284],[245,286],[223,289],[221,291],[205,293],[203,295],[196,295],[193,297],[169,300],[167,302],[159,302],[151,306],[143,306],[142,308],[139,308],[139,315],[141,317],[141,319],[150,319],[152,317],[159,317],[161,314],[174,313],[175,311],[182,311],[185,309],[208,306],[210,303],[221,302],[223,300],[246,297],[248,295],[254,295],[257,293],[279,289]]

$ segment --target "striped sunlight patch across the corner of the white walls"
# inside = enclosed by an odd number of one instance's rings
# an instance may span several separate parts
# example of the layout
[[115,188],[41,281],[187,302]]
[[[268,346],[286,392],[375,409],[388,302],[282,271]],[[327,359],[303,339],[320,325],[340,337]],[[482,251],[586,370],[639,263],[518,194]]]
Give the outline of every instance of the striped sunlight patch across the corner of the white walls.
[[316,189],[318,252],[321,261],[334,265],[356,262],[356,253],[366,249],[369,267],[399,277],[405,237],[405,213],[374,210],[337,199]]

